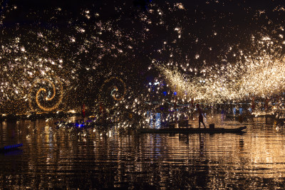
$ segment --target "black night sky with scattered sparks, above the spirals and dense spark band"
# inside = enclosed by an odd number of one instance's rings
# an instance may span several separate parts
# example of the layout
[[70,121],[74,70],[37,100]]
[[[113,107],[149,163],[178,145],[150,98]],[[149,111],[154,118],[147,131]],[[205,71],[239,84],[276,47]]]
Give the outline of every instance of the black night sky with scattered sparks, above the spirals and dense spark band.
[[283,1],[153,0],[145,8],[134,1],[4,0],[0,15],[5,101],[19,99],[23,86],[46,73],[64,80],[66,98],[80,104],[97,101],[112,77],[135,96],[162,78],[154,63],[191,78],[248,55],[284,54]]

